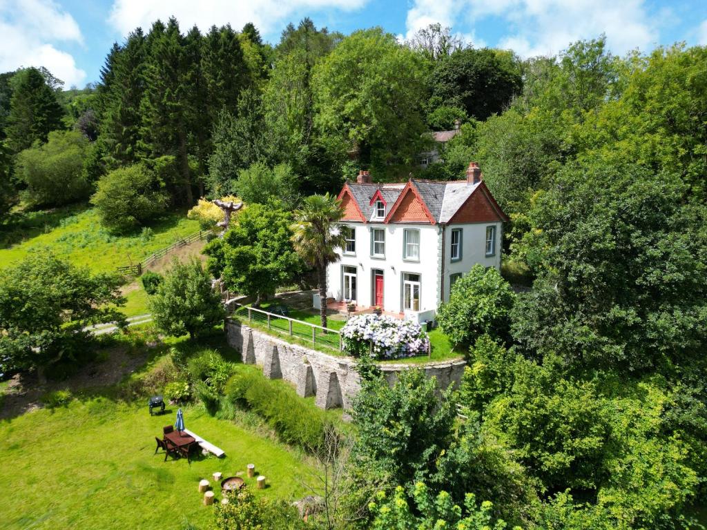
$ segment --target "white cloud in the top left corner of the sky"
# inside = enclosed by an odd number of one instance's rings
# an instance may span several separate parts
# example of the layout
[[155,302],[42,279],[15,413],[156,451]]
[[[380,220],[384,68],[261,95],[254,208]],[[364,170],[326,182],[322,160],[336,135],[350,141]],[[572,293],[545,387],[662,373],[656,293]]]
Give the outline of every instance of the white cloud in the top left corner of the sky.
[[86,72],[57,42],[83,42],[76,20],[52,0],[0,0],[0,71],[45,66],[66,86],[80,86]]

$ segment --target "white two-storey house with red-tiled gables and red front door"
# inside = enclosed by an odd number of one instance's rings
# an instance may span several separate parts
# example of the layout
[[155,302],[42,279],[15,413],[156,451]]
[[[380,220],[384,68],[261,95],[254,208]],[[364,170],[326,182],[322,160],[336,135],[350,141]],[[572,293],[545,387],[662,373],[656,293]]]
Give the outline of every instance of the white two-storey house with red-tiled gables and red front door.
[[508,218],[477,163],[469,164],[466,180],[453,182],[373,184],[362,171],[339,200],[346,245],[327,269],[327,295],[337,301],[422,322],[433,319],[450,286],[474,264],[501,267]]

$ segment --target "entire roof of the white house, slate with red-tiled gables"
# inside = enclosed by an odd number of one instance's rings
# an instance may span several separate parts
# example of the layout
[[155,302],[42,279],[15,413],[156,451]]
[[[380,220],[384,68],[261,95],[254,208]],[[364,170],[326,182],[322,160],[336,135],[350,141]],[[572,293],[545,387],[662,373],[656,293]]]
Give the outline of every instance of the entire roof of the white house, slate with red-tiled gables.
[[368,223],[373,218],[378,194],[386,204],[383,223],[474,223],[507,221],[481,179],[440,182],[409,179],[406,183],[375,184],[346,182],[339,194],[344,204],[344,220]]

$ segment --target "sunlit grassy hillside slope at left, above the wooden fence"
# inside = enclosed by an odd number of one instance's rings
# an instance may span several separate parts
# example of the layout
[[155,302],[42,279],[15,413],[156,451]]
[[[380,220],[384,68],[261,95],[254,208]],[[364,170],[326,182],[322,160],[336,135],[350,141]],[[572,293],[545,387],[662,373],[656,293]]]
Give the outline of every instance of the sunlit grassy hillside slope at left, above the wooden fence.
[[17,263],[33,249],[50,248],[94,272],[115,271],[197,230],[199,223],[187,219],[185,211],[168,213],[150,230],[126,236],[112,235],[86,206],[26,213],[0,225],[0,266]]

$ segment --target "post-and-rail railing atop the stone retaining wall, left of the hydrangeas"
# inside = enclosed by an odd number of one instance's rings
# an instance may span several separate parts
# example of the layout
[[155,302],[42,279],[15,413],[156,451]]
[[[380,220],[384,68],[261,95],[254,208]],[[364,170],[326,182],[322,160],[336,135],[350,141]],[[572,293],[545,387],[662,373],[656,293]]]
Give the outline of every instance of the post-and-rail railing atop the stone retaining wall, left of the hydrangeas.
[[341,341],[341,334],[336,329],[317,326],[303,320],[293,319],[284,314],[271,313],[250,307],[239,305],[234,312],[235,315],[247,319],[249,324],[259,324],[269,331],[278,334],[287,334],[291,337],[312,343],[315,346],[326,346],[332,350],[342,351],[344,343]]

